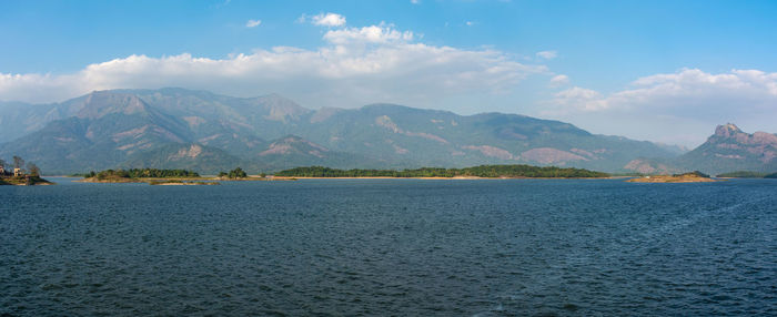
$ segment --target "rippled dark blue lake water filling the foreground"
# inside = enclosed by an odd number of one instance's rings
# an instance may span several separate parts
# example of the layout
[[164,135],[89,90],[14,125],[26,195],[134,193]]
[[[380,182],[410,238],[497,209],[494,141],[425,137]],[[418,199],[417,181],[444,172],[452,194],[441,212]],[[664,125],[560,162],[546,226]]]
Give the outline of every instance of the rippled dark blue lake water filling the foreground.
[[777,180],[0,186],[2,316],[777,315]]

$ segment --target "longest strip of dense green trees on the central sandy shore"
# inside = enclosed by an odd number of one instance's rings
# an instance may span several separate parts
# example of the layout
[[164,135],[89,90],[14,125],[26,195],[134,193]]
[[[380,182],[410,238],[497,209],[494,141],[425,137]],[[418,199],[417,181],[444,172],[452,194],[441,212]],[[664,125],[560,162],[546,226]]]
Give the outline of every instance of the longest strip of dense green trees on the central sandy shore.
[[336,170],[324,166],[296,167],[275,173],[284,177],[507,177],[593,178],[609,174],[583,168],[532,165],[481,165],[465,168],[422,167],[416,170]]

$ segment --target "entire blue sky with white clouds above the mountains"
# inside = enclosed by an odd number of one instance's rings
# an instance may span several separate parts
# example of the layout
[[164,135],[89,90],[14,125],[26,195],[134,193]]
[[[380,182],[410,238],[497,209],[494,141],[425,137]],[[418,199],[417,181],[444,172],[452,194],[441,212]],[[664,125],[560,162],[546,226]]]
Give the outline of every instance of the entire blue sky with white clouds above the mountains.
[[0,101],[180,86],[504,112],[696,146],[777,132],[777,1],[0,1]]

